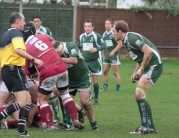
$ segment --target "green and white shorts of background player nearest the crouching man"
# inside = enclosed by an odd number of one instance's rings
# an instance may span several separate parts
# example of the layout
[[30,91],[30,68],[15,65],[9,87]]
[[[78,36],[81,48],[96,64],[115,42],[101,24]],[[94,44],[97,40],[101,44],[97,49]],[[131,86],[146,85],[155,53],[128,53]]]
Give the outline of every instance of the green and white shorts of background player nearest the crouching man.
[[109,57],[106,55],[103,64],[110,64],[111,66],[121,65],[119,61],[119,55],[114,55],[113,57]]

